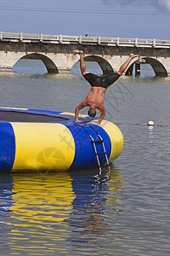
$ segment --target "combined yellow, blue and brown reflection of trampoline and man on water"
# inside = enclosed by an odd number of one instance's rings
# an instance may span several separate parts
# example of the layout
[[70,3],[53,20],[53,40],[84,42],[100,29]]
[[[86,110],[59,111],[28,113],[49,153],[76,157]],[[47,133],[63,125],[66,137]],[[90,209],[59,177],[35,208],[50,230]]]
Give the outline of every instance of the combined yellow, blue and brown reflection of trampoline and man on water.
[[117,203],[123,182],[117,169],[112,168],[110,176],[96,173],[12,174],[13,204],[6,222],[10,250],[65,254],[86,242],[95,250],[95,238],[108,230],[108,214],[120,212]]

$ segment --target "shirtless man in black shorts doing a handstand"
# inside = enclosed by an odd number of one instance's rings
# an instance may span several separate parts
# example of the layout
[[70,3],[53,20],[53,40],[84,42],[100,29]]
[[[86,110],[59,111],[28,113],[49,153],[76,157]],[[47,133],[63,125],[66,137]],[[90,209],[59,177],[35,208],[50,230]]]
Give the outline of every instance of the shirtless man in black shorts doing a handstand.
[[95,75],[94,73],[88,73],[88,71],[86,70],[86,65],[84,62],[82,50],[76,49],[74,52],[75,52],[75,54],[80,55],[80,69],[82,72],[82,76],[92,86],[90,92],[88,93],[88,96],[75,109],[76,122],[78,122],[79,110],[82,108],[85,108],[85,107],[90,107],[88,109],[88,115],[93,118],[96,115],[96,108],[99,110],[100,116],[99,116],[99,120],[97,122],[97,124],[99,125],[101,123],[102,119],[104,119],[104,117],[105,117],[104,101],[105,101],[105,91],[106,91],[107,87],[109,87],[117,79],[119,79],[119,77],[122,75],[122,73],[127,68],[130,61],[132,61],[133,58],[135,58],[135,57],[139,57],[139,55],[131,54],[130,57],[127,59],[127,61],[125,61],[122,64],[122,66],[119,68],[118,72],[111,73],[104,77],[99,77],[99,76]]

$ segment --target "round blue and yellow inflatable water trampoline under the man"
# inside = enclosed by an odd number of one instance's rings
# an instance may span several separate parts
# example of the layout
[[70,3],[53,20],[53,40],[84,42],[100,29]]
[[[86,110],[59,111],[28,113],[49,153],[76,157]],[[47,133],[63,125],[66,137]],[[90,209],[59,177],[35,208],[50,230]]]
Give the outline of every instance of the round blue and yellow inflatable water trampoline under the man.
[[98,168],[122,153],[123,137],[110,121],[87,115],[27,108],[0,108],[0,171]]

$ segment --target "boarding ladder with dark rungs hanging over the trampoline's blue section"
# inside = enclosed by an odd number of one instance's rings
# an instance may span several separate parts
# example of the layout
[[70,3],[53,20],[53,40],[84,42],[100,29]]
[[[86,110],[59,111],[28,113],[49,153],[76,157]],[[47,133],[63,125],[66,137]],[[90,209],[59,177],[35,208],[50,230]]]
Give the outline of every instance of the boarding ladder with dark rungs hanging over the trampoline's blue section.
[[[94,127],[92,127],[91,125],[89,125],[89,124],[86,124],[87,126],[85,126],[85,125],[81,125],[81,124],[77,124],[77,125],[80,125],[87,133],[88,133],[88,131],[85,129],[85,127],[90,127],[90,128],[92,128],[94,131],[95,131],[95,129],[94,129]],[[101,174],[101,172],[102,172],[102,167],[108,167],[108,169],[109,169],[109,172],[111,172],[111,167],[110,167],[110,164],[109,164],[109,160],[108,160],[108,157],[107,157],[107,153],[106,153],[106,151],[105,151],[105,143],[104,143],[104,140],[103,140],[103,138],[99,135],[99,133],[97,132],[97,131],[95,131],[95,133],[97,134],[97,136],[99,137],[99,140],[94,140],[94,138],[88,133],[88,136],[90,137],[90,139],[91,139],[91,143],[93,144],[93,146],[94,146],[94,151],[95,151],[95,154],[94,155],[96,155],[96,158],[97,158],[97,163],[98,163],[98,166],[99,166],[99,174]],[[101,144],[102,145],[102,147],[103,147],[103,149],[104,149],[104,152],[101,152],[101,153],[98,153],[98,151],[97,151],[97,148],[96,148],[96,144]],[[106,160],[106,165],[101,165],[100,164],[100,162],[99,162],[99,155],[102,155],[102,154],[104,154],[105,155],[105,160]]]

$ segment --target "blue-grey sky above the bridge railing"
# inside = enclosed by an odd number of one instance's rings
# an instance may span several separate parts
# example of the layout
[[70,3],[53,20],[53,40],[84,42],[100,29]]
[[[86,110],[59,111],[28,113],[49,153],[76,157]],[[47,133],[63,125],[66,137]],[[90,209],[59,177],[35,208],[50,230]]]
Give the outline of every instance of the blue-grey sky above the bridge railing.
[[0,31],[170,40],[170,0],[0,0]]

